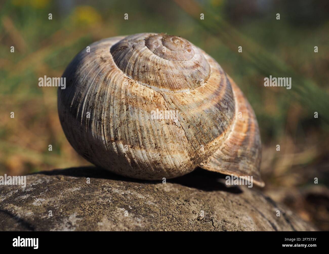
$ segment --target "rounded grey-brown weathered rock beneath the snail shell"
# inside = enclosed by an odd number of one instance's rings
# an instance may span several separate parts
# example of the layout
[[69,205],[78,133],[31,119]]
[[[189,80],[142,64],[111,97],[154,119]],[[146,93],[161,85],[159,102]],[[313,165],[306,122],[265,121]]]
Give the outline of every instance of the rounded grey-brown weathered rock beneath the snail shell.
[[0,186],[0,230],[315,230],[260,191],[218,177],[196,170],[164,184],[94,167],[40,172],[25,188]]

